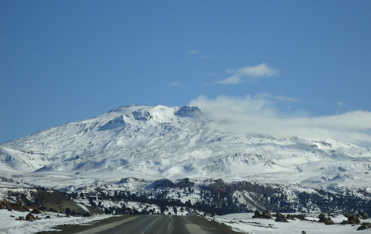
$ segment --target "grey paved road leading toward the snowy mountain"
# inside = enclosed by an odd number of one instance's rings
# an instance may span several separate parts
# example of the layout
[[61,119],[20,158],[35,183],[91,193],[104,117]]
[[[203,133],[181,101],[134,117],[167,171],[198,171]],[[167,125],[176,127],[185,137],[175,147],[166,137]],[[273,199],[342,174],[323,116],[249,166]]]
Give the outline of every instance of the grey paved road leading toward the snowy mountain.
[[79,234],[208,234],[187,216],[139,215]]

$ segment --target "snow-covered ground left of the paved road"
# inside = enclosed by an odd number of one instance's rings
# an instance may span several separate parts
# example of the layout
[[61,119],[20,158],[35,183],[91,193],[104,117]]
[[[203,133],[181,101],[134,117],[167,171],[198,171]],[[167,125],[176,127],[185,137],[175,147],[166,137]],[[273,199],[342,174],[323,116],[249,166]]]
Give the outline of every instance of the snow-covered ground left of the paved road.
[[[92,217],[65,217],[64,214],[57,216],[57,213],[47,212],[44,214],[37,214],[41,220],[30,221],[16,221],[19,216],[26,217],[29,212],[7,211],[0,210],[0,233],[1,234],[27,234],[36,233],[39,231],[50,231],[56,225],[63,224],[86,224],[94,220],[101,220],[111,217],[112,215],[94,215]],[[13,215],[14,217],[10,217]],[[50,215],[50,219],[45,219]],[[36,216],[36,215],[35,215]],[[88,224],[86,224],[88,225]]]

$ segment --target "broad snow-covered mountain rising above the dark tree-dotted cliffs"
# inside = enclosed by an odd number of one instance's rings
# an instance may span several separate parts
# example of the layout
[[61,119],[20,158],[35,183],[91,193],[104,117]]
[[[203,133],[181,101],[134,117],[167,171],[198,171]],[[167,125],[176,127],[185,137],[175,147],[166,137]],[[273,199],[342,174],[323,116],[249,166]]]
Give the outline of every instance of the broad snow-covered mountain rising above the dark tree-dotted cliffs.
[[0,171],[369,187],[371,150],[214,130],[197,107],[124,106],[0,145]]

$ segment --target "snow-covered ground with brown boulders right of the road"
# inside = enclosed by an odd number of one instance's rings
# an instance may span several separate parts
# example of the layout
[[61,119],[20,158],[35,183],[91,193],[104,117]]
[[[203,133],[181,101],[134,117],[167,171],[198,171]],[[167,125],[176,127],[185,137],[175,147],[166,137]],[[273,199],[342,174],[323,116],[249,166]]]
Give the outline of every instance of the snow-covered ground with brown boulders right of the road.
[[[334,233],[334,234],[348,234],[348,233],[370,233],[370,229],[357,231],[360,226],[356,224],[355,226],[347,225],[325,225],[324,223],[314,223],[302,220],[288,220],[289,223],[279,223],[275,222],[274,219],[268,220],[263,218],[252,218],[253,213],[243,213],[243,214],[227,214],[223,216],[216,217],[215,220],[225,223],[233,227],[236,231],[244,231],[246,233],[253,234],[300,234],[305,231],[307,234],[322,234],[322,233]],[[285,214],[286,215],[286,214]],[[309,220],[318,220],[319,214],[307,215]],[[340,223],[346,220],[342,215],[335,216],[332,220],[335,223]],[[242,221],[242,222],[240,222]],[[371,219],[361,220],[361,222],[371,222]],[[269,225],[271,224],[271,225]]]

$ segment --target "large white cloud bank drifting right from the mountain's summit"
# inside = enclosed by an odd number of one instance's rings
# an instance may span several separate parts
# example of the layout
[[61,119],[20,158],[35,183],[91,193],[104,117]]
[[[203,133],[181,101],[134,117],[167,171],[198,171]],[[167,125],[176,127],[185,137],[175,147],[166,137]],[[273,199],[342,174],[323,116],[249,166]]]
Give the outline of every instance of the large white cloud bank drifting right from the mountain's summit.
[[[282,113],[270,97],[204,96],[192,100],[188,106],[197,106],[210,120],[226,120],[210,127],[236,134],[262,134],[281,137],[303,137],[312,140],[326,138],[371,145],[371,112],[349,111],[331,116],[290,116]],[[283,98],[286,99],[286,98]],[[284,100],[289,101],[289,100]],[[299,117],[298,117],[299,116]]]

